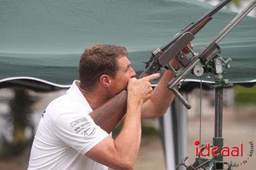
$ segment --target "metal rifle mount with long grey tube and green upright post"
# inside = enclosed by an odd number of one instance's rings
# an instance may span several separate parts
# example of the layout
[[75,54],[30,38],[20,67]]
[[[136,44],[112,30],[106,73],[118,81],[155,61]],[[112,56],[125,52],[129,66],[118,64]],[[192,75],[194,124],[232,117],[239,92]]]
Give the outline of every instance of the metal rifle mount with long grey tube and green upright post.
[[[205,170],[223,170],[224,164],[228,162],[223,161],[223,156],[221,155],[223,147],[222,138],[222,103],[223,103],[223,88],[231,87],[228,79],[224,79],[224,68],[229,68],[230,58],[224,60],[221,56],[221,48],[218,43],[256,6],[256,0],[253,0],[247,7],[244,8],[236,17],[234,17],[229,24],[200,52],[195,53],[191,49],[189,51],[193,54],[193,57],[186,63],[185,66],[176,70],[171,69],[175,73],[175,78],[167,83],[167,87],[172,90],[178,99],[190,109],[190,105],[183,98],[183,96],[177,90],[177,86],[180,86],[180,81],[186,75],[193,72],[196,76],[202,76],[204,73],[206,75],[213,74],[215,76],[215,84],[211,87],[215,89],[215,136],[212,141],[211,147],[219,147],[220,150],[216,151],[215,154],[219,156],[212,156],[212,159],[201,158],[200,156],[196,158],[196,161],[192,165],[186,165],[185,157],[177,166],[183,165],[187,170],[196,170],[203,168]],[[182,64],[181,64],[182,65]],[[227,169],[231,169],[228,165]]]

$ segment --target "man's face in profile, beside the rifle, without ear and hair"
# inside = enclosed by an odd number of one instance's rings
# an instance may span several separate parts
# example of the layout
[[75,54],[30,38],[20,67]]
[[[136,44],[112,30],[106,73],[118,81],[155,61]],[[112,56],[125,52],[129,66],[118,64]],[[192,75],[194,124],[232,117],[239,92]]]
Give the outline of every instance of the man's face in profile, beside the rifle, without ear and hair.
[[115,78],[112,80],[112,94],[115,95],[122,90],[127,89],[128,82],[131,78],[136,76],[136,72],[131,67],[131,62],[126,56],[120,56],[117,58],[118,70]]

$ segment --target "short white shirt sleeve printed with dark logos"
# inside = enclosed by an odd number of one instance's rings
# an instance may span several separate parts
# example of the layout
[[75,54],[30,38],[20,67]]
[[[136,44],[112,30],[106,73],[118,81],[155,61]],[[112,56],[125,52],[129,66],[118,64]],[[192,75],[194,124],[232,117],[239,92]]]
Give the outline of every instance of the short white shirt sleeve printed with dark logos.
[[53,119],[53,125],[56,139],[83,155],[109,136],[84,113],[61,113]]

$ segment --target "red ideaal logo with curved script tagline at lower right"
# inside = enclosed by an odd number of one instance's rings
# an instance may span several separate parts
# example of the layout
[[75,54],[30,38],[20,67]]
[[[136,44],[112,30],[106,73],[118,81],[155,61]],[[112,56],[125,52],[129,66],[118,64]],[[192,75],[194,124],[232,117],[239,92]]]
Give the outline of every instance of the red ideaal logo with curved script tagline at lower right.
[[[250,147],[250,151],[247,154],[247,159],[242,160],[240,163],[231,163],[228,164],[229,167],[239,167],[239,165],[245,164],[249,161],[249,159],[252,157],[253,155],[253,141],[248,142],[249,143],[249,147]],[[243,143],[240,143],[239,147],[236,146],[232,146],[231,148],[227,147],[227,146],[223,146],[222,149],[220,149],[219,147],[215,146],[210,148],[210,144],[207,143],[206,147],[202,146],[200,148],[198,148],[198,145],[200,144],[199,140],[195,140],[194,144],[196,145],[196,156],[198,156],[199,154],[201,156],[210,156],[210,154],[212,156],[243,156]],[[206,150],[206,153],[203,153],[203,151]],[[218,152],[220,151],[221,152]],[[218,152],[218,153],[217,153]]]

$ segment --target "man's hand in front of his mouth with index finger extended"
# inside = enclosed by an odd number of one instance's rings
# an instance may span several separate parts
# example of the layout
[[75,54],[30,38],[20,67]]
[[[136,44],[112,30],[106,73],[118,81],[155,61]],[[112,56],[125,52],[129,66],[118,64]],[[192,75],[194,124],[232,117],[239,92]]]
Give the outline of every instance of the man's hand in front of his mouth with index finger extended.
[[127,87],[128,99],[131,102],[137,104],[143,104],[151,98],[153,88],[151,87],[151,81],[160,77],[160,74],[153,74],[141,79],[130,79]]

